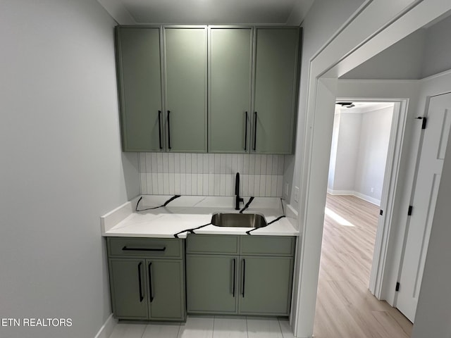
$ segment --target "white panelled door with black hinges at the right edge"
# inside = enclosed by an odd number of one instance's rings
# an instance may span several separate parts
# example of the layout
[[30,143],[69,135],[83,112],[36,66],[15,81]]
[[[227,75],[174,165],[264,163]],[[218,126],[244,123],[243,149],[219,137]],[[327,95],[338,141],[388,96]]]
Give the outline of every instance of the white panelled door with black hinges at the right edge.
[[[421,124],[421,121],[419,121]],[[451,125],[451,93],[431,97],[414,187],[396,307],[414,322]]]

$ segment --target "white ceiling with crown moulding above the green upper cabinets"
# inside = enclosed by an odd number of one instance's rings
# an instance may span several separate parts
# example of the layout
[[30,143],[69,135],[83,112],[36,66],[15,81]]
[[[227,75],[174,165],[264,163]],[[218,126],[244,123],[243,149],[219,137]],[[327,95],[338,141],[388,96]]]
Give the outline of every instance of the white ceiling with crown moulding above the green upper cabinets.
[[98,1],[120,24],[211,25],[299,25],[314,2],[314,0]]

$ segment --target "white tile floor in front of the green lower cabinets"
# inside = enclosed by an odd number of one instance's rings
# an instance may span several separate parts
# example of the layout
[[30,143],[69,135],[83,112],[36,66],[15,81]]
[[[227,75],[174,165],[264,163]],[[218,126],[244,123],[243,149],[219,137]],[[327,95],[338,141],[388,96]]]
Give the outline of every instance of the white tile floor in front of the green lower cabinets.
[[288,320],[188,316],[186,323],[120,322],[110,338],[294,338]]

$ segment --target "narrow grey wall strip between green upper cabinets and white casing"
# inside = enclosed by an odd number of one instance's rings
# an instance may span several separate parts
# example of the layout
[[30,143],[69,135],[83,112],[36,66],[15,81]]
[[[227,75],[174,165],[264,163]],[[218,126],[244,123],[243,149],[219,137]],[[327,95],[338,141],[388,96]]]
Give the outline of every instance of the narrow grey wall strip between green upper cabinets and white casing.
[[[283,182],[288,183],[288,195],[292,206],[297,210],[294,189],[299,187],[299,172],[302,168],[302,153],[304,147],[304,127],[307,108],[307,92],[309,86],[309,63],[311,58],[328,42],[333,34],[342,26],[350,15],[357,11],[364,0],[316,0],[311,6],[307,17],[302,22],[302,60],[299,84],[299,108],[297,116],[297,135],[295,155],[285,156],[285,175]],[[293,175],[294,174],[294,175]]]

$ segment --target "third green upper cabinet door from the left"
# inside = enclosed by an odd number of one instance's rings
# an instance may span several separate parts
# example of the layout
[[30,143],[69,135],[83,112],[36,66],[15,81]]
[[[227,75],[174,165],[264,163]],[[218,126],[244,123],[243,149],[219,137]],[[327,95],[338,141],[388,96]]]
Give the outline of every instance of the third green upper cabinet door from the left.
[[209,32],[209,152],[249,152],[252,30]]

